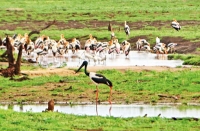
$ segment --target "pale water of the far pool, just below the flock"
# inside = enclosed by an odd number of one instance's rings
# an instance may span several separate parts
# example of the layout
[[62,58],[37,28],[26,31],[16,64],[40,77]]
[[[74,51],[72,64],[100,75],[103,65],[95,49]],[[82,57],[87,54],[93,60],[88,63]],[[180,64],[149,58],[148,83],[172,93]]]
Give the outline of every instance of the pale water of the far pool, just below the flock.
[[[83,50],[79,51],[79,54],[82,54]],[[48,63],[44,64],[45,67],[60,67],[65,66],[74,67],[80,65],[80,59],[77,57],[78,54],[66,54],[63,57],[58,58],[53,62],[52,56],[46,56],[46,61]],[[24,55],[25,59],[28,59],[26,55]],[[114,58],[111,55],[106,54],[106,66],[168,66],[168,67],[176,67],[181,66],[183,64],[182,60],[167,60],[167,54],[164,54],[161,57],[158,57],[157,54],[147,53],[147,52],[138,52],[138,51],[130,51],[130,56],[128,58],[125,57],[124,54],[118,54]],[[39,58],[38,61],[41,61]],[[52,64],[54,63],[54,64]],[[94,61],[91,60],[90,66],[94,66]],[[105,66],[104,64],[97,64],[96,66]]]

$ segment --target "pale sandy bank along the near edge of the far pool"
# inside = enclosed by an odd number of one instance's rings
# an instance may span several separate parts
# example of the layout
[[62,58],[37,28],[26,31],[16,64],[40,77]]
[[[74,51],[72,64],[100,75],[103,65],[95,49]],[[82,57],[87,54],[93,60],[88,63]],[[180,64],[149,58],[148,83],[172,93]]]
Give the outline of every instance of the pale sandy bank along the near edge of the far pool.
[[[75,70],[78,68],[50,68],[50,69],[40,69],[40,70],[34,70],[34,71],[22,71],[22,73],[25,73],[29,75],[30,77],[36,77],[36,76],[50,76],[50,75],[60,75],[60,76],[77,76],[79,73],[75,74]],[[111,70],[115,69],[121,72],[125,72],[128,70],[132,70],[135,72],[141,72],[141,71],[182,71],[182,70],[200,70],[200,68],[196,67],[183,67],[183,68],[171,68],[171,67],[165,67],[165,66],[115,66],[115,67],[109,67],[109,66],[93,66],[90,67],[90,72],[98,72],[100,70]]]

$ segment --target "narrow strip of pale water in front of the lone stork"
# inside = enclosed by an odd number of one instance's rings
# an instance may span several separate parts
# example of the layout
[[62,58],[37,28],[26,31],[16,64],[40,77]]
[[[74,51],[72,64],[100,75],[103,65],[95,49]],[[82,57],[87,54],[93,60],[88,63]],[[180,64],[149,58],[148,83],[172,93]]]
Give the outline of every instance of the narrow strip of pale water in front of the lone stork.
[[[0,108],[8,109],[8,105],[1,105]],[[13,105],[14,111],[20,112],[42,112],[47,108],[47,105]],[[113,117],[142,117],[147,114],[147,117],[195,117],[200,118],[200,107],[179,108],[177,106],[167,105],[55,105],[55,111],[75,114],[75,115],[89,115],[96,116],[113,116]]]

